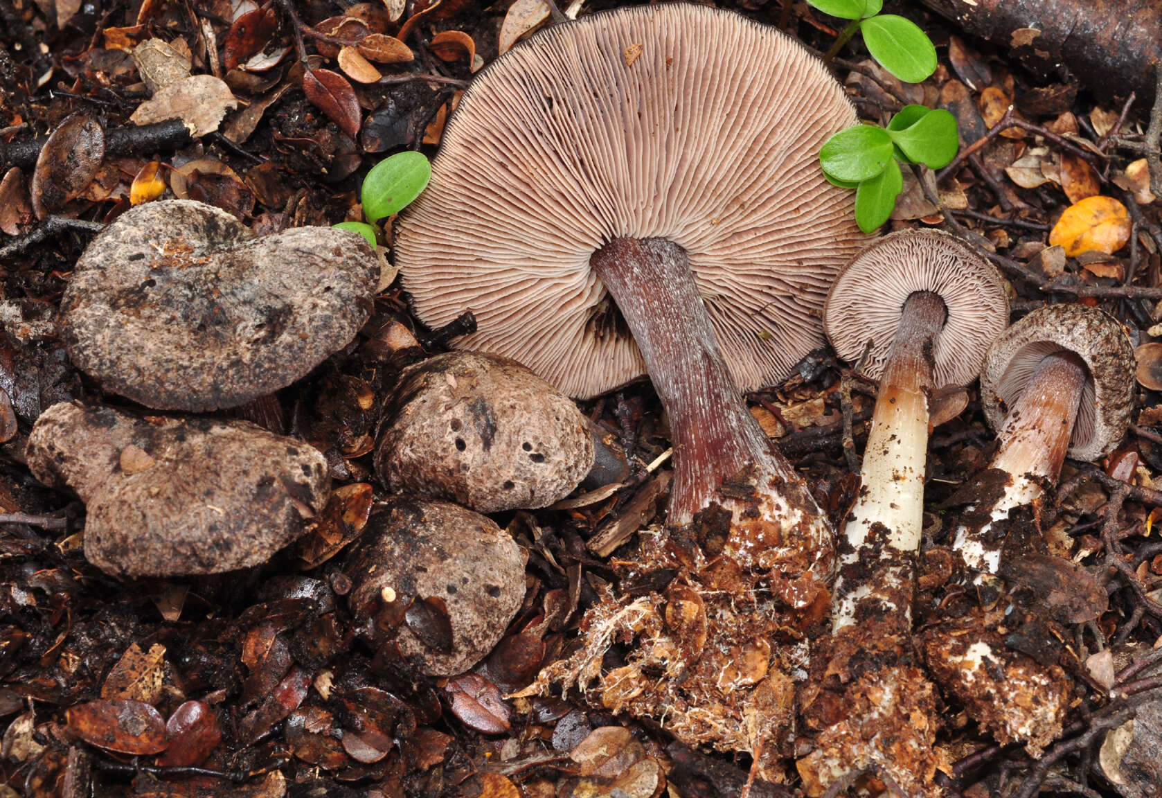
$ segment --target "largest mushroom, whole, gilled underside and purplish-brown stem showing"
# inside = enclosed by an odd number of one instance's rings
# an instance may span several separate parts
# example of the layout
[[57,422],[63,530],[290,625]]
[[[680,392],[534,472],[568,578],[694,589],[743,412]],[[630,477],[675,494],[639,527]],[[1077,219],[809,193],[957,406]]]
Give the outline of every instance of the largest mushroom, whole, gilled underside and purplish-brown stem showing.
[[400,224],[403,285],[429,324],[475,314],[460,346],[573,396],[648,372],[675,451],[669,524],[717,503],[748,519],[738,556],[826,573],[829,525],[739,389],[822,343],[826,287],[865,236],[818,151],[855,122],[816,58],[733,13],[553,26],[465,92]]

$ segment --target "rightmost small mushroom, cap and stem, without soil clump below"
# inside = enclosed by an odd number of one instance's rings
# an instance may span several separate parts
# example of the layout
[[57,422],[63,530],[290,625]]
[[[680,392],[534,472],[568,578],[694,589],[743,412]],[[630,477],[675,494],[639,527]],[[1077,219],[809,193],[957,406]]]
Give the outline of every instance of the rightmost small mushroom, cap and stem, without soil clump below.
[[[1005,330],[981,369],[981,403],[999,446],[987,499],[976,503],[953,547],[976,570],[1000,566],[992,525],[1039,503],[1066,456],[1096,460],[1126,434],[1134,407],[1134,351],[1117,319],[1097,308],[1039,308]],[[999,489],[998,489],[999,488]]]

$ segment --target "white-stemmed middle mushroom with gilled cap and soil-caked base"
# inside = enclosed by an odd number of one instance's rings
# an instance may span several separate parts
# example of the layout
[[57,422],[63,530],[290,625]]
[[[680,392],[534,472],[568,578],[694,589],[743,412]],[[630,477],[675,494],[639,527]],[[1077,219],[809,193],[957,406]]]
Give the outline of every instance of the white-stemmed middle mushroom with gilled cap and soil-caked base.
[[[932,391],[967,384],[1009,319],[1004,282],[960,239],[902,231],[871,244],[840,273],[824,325],[848,361],[868,350],[880,389],[839,540],[832,638],[812,657],[803,693],[822,729],[801,760],[808,795],[866,768],[914,793],[932,791],[937,696],[911,650],[911,603],[924,513]],[[830,698],[824,698],[830,693]],[[838,695],[837,695],[838,693]]]

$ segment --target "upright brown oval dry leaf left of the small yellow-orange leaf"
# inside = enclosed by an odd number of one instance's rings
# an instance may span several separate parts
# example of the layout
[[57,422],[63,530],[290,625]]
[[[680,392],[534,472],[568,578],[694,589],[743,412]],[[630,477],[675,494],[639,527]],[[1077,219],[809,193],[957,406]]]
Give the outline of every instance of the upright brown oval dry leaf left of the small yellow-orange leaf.
[[105,131],[77,114],[60,123],[41,149],[33,171],[33,210],[43,220],[80,196],[105,159]]

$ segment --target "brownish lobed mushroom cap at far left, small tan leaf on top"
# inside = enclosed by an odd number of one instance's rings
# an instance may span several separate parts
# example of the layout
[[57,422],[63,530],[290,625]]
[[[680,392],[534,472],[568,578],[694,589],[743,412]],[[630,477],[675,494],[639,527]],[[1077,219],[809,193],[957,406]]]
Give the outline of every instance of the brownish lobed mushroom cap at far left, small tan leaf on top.
[[253,424],[80,403],[41,414],[27,458],[85,502],[85,556],[117,576],[261,565],[310,529],[330,490],[322,453]]

